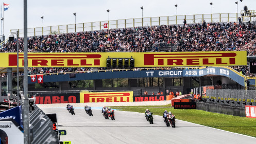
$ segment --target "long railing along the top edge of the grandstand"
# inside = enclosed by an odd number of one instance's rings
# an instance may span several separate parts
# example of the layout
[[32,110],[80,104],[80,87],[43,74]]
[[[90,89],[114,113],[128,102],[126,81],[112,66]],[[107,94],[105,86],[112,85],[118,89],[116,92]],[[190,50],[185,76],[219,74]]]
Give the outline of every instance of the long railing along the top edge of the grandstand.
[[[141,26],[183,24],[183,19],[186,20],[187,24],[202,23],[203,21],[206,21],[207,23],[237,22],[238,14],[240,13],[174,15],[174,16],[143,17],[143,18],[135,18],[135,19],[36,27],[36,28],[28,28],[28,36],[71,33],[71,32],[78,32],[78,31],[93,31],[93,30],[102,30],[102,29],[111,29],[111,28],[128,28],[128,27],[141,27]],[[107,24],[108,28],[104,28],[104,24]],[[11,31],[17,31],[17,30],[20,33],[19,36],[23,37],[24,36],[23,29],[11,29]]]

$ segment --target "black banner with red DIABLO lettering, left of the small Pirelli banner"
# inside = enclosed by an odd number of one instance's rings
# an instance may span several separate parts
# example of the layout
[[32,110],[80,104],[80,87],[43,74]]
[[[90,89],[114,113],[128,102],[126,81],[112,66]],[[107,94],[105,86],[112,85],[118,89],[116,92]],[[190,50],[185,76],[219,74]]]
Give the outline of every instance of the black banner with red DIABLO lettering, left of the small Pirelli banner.
[[36,104],[79,103],[80,94],[37,94]]

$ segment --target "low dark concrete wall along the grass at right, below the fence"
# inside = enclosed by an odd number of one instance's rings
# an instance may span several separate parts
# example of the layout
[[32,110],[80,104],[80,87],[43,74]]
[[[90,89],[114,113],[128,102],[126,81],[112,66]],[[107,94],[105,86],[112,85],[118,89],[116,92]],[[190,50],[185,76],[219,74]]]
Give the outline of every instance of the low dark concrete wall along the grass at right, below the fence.
[[245,117],[245,107],[234,107],[214,103],[197,102],[196,109],[213,113]]

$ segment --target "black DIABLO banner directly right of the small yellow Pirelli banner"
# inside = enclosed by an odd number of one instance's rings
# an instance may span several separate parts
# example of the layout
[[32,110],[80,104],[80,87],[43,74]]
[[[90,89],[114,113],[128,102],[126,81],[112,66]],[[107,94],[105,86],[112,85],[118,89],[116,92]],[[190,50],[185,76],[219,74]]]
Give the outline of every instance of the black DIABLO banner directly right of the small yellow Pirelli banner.
[[133,96],[133,101],[163,101],[163,100],[166,100],[166,95]]

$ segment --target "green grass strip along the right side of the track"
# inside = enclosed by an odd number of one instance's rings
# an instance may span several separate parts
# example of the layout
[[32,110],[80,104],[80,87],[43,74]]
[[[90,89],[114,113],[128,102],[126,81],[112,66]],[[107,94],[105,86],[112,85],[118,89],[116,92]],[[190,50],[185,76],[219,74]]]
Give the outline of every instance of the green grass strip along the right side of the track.
[[162,116],[163,112],[167,110],[168,112],[171,111],[179,120],[189,121],[205,125],[207,127],[256,137],[255,118],[231,116],[201,110],[174,109],[173,107],[170,107],[170,104],[158,106],[111,106],[111,108],[118,109],[120,111],[139,113],[144,113],[146,109],[149,109],[153,114],[159,116]]

